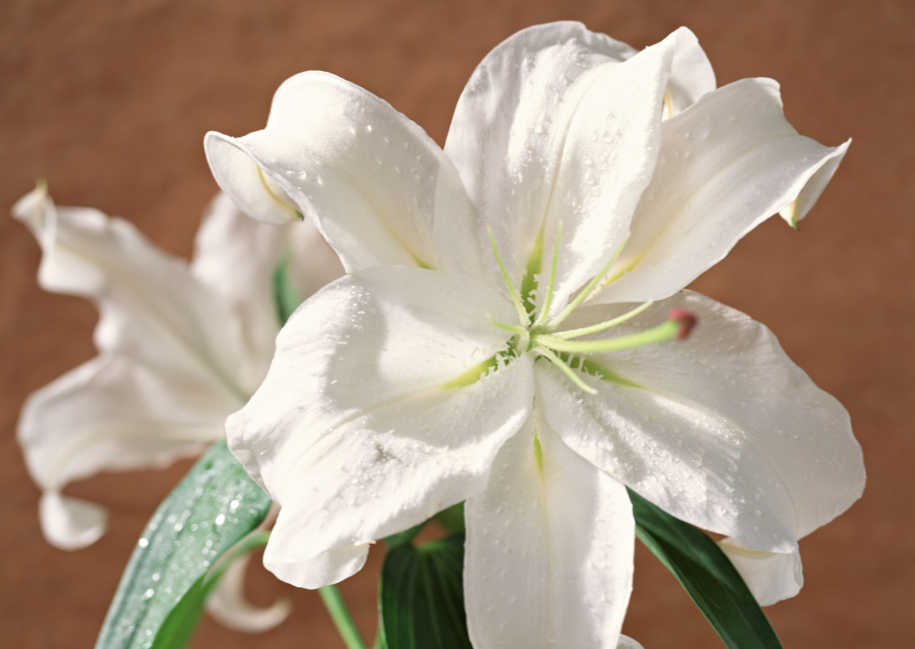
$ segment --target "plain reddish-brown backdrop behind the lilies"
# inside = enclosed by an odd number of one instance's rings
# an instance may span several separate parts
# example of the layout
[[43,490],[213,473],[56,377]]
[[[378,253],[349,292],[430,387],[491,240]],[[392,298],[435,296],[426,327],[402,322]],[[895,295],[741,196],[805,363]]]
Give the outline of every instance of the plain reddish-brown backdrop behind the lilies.
[[[719,84],[769,76],[786,115],[824,144],[855,143],[802,231],[772,219],[694,287],[768,324],[851,411],[864,498],[802,541],[807,585],[770,609],[789,649],[911,647],[915,620],[915,3],[533,0],[0,0],[0,210],[47,176],[60,204],[132,219],[188,256],[216,189],[203,133],[262,128],[277,85],[325,69],[391,101],[442,144],[479,59],[519,28],[575,18],[636,47],[691,27]],[[90,358],[96,314],[35,285],[38,247],[0,218],[0,638],[89,647],[156,503],[187,470],[105,474],[69,492],[108,505],[91,548],[50,548],[14,437],[26,395]],[[625,630],[647,649],[721,644],[641,551]],[[346,582],[366,633],[374,572]],[[259,566],[250,596],[283,591],[293,618],[248,636],[203,622],[194,646],[342,647],[316,593]],[[565,648],[559,648],[565,649]],[[576,649],[576,648],[568,648]]]

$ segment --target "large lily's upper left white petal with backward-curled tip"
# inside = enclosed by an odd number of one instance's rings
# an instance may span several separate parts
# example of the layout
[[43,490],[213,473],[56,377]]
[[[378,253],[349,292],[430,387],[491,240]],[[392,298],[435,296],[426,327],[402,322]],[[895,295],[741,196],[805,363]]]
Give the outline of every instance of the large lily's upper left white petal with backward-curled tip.
[[298,74],[276,91],[263,131],[208,133],[204,145],[242,211],[276,223],[301,210],[349,272],[404,264],[479,274],[474,210],[453,165],[423,129],[349,81]]

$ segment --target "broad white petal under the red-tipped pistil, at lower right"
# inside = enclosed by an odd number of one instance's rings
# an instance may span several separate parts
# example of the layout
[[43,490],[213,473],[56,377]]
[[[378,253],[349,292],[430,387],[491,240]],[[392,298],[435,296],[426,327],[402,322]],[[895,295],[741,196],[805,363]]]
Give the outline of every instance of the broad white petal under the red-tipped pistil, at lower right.
[[698,315],[689,339],[589,356],[606,368],[606,380],[585,377],[593,397],[537,367],[546,418],[576,452],[669,514],[748,548],[792,553],[861,495],[848,414],[765,326],[698,293],[655,304],[617,331],[645,329],[677,306]]

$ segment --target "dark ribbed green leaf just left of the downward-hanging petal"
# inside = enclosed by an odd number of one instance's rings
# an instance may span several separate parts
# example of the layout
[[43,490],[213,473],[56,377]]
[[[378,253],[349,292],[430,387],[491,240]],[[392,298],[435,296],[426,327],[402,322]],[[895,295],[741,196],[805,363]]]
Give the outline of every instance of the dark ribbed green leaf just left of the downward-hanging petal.
[[464,533],[391,548],[378,605],[385,649],[472,649],[464,612]]

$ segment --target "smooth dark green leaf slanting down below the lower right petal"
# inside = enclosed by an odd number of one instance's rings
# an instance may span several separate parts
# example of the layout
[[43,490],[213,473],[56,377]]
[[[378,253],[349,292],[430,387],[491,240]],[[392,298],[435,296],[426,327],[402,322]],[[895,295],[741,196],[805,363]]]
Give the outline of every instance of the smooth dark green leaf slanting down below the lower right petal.
[[704,532],[629,490],[636,536],[680,580],[730,649],[781,649],[743,578]]

